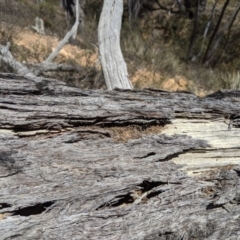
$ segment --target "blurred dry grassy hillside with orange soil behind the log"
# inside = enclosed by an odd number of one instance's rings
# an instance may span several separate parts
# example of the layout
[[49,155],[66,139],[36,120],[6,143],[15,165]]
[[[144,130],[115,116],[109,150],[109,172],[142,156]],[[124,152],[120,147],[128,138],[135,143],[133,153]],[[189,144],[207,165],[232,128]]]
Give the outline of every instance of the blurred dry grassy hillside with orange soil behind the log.
[[[161,6],[166,9],[159,9]],[[192,1],[192,2],[197,2]],[[128,5],[125,2],[121,45],[128,65],[130,78],[136,88],[154,87],[168,90],[188,90],[204,95],[221,88],[240,88],[240,17],[237,14],[230,29],[224,31],[217,50],[209,61],[204,62],[209,41],[219,22],[226,0],[217,1],[215,14],[206,37],[204,31],[211,17],[215,1],[209,0],[199,10],[196,27],[196,4],[181,13],[172,8],[174,0],[142,1],[138,18],[128,18]],[[238,5],[231,0],[224,12],[218,33],[224,28]],[[59,55],[57,62],[68,62],[81,68],[81,73],[57,72],[47,76],[57,77],[71,85],[83,88],[104,88],[104,79],[97,57],[97,24],[102,1],[86,2],[85,28],[71,46],[81,52],[75,55]],[[45,33],[52,39],[60,40],[67,32],[66,16],[59,0],[44,0],[41,3],[30,0],[0,1],[0,44],[11,42],[11,52],[23,63],[43,61],[52,51],[52,45],[35,41],[32,46],[17,44],[23,31],[29,36],[34,19],[44,19]],[[194,37],[193,37],[194,33]],[[216,35],[214,41],[216,41]],[[40,39],[40,38],[39,38]],[[21,39],[22,40],[22,39]],[[192,46],[190,48],[190,46]],[[84,61],[83,61],[84,59]],[[13,71],[1,63],[1,71]]]

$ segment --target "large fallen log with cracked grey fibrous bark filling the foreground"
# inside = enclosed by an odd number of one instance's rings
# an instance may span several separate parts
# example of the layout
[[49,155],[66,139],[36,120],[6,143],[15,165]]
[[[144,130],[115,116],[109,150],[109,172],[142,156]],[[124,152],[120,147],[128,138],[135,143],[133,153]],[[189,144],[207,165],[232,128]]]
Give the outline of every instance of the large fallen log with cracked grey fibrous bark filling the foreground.
[[240,92],[0,74],[0,239],[240,239],[239,164]]

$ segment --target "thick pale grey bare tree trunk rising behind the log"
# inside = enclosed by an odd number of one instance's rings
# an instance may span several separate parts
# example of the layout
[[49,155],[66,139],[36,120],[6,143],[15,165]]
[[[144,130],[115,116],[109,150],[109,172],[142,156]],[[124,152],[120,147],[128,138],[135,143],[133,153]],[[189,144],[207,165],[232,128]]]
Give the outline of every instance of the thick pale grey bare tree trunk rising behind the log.
[[108,90],[132,89],[120,47],[123,0],[104,0],[98,26],[100,60]]

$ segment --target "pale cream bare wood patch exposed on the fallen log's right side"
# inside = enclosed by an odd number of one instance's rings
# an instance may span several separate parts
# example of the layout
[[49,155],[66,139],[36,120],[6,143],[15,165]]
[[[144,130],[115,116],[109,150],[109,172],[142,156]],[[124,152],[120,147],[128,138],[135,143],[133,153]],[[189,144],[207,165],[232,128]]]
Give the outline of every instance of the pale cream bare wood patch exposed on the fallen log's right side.
[[215,121],[175,119],[162,134],[169,136],[183,134],[209,144],[207,149],[193,150],[172,159],[176,164],[185,165],[182,169],[191,174],[240,164],[240,128],[229,129],[224,119]]

